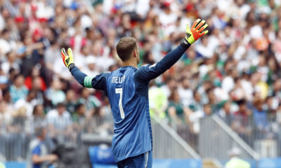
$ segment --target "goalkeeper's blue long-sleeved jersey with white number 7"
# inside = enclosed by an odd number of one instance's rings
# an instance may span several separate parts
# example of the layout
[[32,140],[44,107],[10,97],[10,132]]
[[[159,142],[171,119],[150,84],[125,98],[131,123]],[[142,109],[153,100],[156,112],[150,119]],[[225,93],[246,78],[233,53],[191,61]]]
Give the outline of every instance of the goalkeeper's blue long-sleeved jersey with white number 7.
[[153,65],[122,66],[116,71],[86,76],[76,66],[74,78],[84,87],[105,91],[114,118],[112,152],[115,161],[152,150],[152,130],[148,104],[149,81],[169,69],[188,47],[179,45]]

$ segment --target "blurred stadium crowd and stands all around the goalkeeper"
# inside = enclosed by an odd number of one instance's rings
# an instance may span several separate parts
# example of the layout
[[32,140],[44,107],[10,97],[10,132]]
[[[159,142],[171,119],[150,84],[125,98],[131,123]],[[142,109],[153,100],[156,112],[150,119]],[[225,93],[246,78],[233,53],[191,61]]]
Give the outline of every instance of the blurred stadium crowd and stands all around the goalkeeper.
[[234,157],[280,168],[280,5],[0,0],[0,167],[28,167],[33,155],[45,155],[46,167],[63,167],[79,152],[93,167],[114,167],[105,165],[114,165],[105,160],[110,104],[103,92],[79,86],[60,49],[71,47],[79,69],[96,76],[122,66],[115,45],[133,36],[141,64],[154,64],[177,47],[187,23],[202,18],[209,34],[150,82],[153,167],[219,168]]

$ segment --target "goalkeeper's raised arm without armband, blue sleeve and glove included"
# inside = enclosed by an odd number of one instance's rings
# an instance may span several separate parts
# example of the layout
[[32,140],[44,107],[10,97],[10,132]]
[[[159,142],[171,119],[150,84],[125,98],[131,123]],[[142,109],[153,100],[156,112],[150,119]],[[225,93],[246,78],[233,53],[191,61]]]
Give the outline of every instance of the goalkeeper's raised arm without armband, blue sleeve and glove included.
[[203,36],[204,34],[208,33],[207,27],[208,25],[206,24],[205,20],[200,19],[197,19],[193,23],[191,29],[190,25],[186,25],[185,38],[183,38],[178,48],[169,52],[163,59],[161,59],[156,64],[148,64],[145,66],[141,66],[140,69],[138,69],[138,71],[136,72],[136,80],[148,82],[149,80],[157,78],[157,76],[164,73],[164,71],[173,66],[178,61],[178,59],[181,58],[183,53],[188,50],[192,43],[197,41],[197,39]]

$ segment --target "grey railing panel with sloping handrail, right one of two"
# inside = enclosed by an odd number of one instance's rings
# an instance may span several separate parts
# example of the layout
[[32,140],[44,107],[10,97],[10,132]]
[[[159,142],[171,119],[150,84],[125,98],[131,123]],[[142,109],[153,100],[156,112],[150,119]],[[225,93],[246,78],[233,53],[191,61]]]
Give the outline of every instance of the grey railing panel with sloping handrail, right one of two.
[[234,146],[241,149],[242,158],[259,159],[259,154],[218,116],[200,120],[199,151],[203,158],[228,159]]

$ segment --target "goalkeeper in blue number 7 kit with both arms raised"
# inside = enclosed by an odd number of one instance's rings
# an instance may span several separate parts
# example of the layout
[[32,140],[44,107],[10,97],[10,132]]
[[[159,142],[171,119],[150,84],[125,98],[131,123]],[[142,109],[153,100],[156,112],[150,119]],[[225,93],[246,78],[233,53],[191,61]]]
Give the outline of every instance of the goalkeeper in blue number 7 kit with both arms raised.
[[112,152],[118,167],[152,167],[149,82],[173,66],[192,43],[207,34],[207,27],[200,19],[193,23],[191,29],[187,25],[185,38],[178,48],[156,64],[140,68],[137,68],[140,57],[136,39],[121,38],[116,49],[122,67],[98,76],[86,76],[74,65],[72,50],[68,48],[67,55],[62,49],[63,62],[80,85],[103,90],[109,99],[114,118]]

